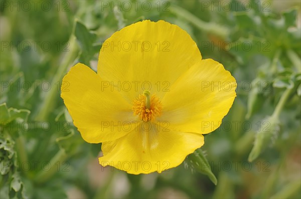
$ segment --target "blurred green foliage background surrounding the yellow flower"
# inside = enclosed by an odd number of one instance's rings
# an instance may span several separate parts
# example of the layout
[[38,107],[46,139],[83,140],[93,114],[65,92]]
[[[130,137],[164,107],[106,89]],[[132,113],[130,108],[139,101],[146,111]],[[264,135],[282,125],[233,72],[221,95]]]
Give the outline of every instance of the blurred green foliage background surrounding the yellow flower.
[[[1,198],[300,198],[300,6],[1,0]],[[60,86],[79,61],[96,70],[101,43],[142,19],[185,29],[238,86],[202,151],[161,174],[131,175],[98,164],[101,144],[81,138]]]

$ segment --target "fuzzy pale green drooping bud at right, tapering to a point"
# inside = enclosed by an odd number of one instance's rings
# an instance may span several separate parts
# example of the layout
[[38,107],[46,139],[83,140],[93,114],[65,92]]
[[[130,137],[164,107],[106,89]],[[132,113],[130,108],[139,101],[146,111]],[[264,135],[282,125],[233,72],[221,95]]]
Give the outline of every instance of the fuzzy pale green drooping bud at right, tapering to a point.
[[268,116],[266,119],[263,119],[256,133],[254,146],[249,154],[248,160],[251,162],[256,159],[267,146],[273,143],[279,131],[280,125],[278,118]]

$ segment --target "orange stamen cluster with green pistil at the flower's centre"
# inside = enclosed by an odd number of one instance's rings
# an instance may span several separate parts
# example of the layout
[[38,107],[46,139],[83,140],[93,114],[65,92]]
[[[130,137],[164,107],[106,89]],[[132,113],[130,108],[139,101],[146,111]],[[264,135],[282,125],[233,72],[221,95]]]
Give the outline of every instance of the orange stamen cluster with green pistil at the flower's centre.
[[143,121],[153,121],[162,113],[162,102],[156,94],[150,96],[150,92],[144,90],[143,94],[139,94],[133,101],[133,113],[139,115]]

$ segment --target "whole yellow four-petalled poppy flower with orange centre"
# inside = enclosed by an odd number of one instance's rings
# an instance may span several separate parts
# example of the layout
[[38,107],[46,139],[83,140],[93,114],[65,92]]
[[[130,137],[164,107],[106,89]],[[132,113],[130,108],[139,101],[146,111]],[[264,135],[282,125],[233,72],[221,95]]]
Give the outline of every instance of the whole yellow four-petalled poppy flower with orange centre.
[[176,167],[201,147],[235,89],[230,72],[202,59],[186,31],[143,20],[103,42],[97,74],[73,66],[61,96],[83,139],[102,142],[99,163],[139,174]]

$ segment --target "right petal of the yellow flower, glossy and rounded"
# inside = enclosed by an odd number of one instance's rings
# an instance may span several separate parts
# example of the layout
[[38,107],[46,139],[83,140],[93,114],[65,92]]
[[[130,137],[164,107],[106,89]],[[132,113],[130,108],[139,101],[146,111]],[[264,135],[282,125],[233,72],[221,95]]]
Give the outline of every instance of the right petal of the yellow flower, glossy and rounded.
[[171,130],[209,133],[221,124],[236,96],[236,81],[224,66],[203,59],[185,72],[162,99],[159,121]]

